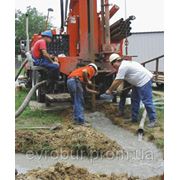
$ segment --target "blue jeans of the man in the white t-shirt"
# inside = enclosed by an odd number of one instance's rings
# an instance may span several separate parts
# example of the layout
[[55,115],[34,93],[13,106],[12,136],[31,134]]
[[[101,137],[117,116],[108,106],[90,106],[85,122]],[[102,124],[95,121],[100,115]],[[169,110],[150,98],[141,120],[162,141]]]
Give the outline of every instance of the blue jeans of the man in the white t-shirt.
[[150,122],[156,120],[155,106],[152,100],[152,81],[150,80],[142,87],[133,87],[131,94],[132,120],[138,119],[140,101],[142,100]]

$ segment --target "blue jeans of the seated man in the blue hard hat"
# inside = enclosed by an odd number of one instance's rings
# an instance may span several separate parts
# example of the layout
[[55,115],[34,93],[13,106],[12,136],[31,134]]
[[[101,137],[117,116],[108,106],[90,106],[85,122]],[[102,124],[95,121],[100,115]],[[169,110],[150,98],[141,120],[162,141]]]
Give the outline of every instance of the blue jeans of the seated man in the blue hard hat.
[[33,59],[35,60],[34,61],[35,66],[42,66],[42,67],[45,67],[46,69],[48,69],[50,79],[53,79],[53,80],[59,79],[60,73],[59,73],[59,66],[57,64],[51,63],[46,58],[41,58],[41,59],[33,58]]

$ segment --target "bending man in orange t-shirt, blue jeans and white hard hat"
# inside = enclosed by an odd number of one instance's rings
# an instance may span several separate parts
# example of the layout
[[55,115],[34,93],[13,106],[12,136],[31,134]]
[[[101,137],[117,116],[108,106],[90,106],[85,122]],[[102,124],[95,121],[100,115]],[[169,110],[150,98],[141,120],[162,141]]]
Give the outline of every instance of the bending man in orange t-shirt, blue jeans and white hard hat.
[[83,85],[92,85],[91,79],[98,73],[98,68],[94,63],[75,69],[67,80],[68,91],[73,102],[73,118],[77,125],[89,126],[84,118],[84,96]]

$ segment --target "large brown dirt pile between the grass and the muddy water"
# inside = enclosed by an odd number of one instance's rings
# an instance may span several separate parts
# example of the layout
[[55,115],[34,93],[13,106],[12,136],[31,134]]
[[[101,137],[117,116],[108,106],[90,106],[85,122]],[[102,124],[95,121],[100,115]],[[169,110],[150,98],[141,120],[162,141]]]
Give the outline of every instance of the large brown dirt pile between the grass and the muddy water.
[[110,157],[122,154],[115,141],[92,128],[63,126],[61,130],[16,130],[16,152],[46,155]]

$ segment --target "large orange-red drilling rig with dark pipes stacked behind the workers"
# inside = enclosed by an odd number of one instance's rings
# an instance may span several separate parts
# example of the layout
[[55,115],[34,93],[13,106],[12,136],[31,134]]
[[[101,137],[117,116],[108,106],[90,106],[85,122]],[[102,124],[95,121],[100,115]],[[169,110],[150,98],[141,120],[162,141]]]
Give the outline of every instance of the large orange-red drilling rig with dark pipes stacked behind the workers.
[[[125,59],[131,56],[123,53],[127,46],[127,37],[131,35],[131,21],[135,16],[127,19],[119,18],[110,25],[110,19],[115,16],[120,7],[110,4],[109,0],[60,0],[61,25],[59,29],[52,29],[52,42],[47,51],[58,57],[62,82],[59,92],[67,93],[66,79],[70,72],[79,66],[95,63],[98,66],[98,76],[94,83],[100,93],[104,93],[114,79],[115,70],[109,63],[109,56],[118,53]],[[64,4],[65,3],[65,4]],[[32,46],[41,36],[34,34],[30,43]],[[62,56],[63,54],[63,56]],[[27,65],[27,64],[26,64]],[[46,79],[45,70],[33,65],[29,66],[28,77],[32,86]],[[47,101],[46,85],[38,86],[36,96],[38,101]],[[54,93],[54,91],[52,92]],[[92,107],[95,107],[95,96],[92,96]]]

